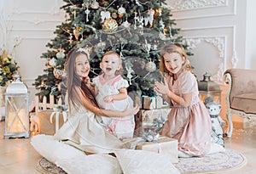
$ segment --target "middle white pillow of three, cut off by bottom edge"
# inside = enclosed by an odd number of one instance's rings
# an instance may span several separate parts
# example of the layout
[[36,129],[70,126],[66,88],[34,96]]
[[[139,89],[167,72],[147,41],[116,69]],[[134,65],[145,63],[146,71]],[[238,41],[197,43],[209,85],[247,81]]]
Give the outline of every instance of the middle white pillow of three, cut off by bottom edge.
[[60,166],[67,173],[72,174],[121,174],[119,162],[109,154],[90,154],[71,159],[58,160]]

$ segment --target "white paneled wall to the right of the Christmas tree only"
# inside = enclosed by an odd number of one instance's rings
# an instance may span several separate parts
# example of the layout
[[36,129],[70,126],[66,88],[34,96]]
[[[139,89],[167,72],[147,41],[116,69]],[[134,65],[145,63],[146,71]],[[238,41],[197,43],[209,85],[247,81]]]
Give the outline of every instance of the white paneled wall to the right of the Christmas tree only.
[[[167,0],[177,28],[189,43],[191,64],[201,80],[208,71],[222,83],[224,70],[256,69],[253,0]],[[253,32],[254,31],[254,32]],[[253,64],[254,62],[254,64]]]

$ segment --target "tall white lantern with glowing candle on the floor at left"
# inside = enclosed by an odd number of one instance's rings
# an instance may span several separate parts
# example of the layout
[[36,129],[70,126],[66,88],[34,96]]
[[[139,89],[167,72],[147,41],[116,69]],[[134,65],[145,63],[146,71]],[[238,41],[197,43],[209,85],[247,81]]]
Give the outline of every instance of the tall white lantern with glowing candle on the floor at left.
[[28,96],[26,85],[16,75],[5,93],[4,138],[29,138]]

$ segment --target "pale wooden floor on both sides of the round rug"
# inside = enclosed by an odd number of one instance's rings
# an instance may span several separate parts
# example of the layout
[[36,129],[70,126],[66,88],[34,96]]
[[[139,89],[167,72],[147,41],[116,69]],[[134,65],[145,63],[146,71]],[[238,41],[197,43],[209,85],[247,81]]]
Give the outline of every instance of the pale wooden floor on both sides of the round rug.
[[[37,174],[35,165],[41,156],[32,148],[30,138],[3,139],[4,121],[0,122],[0,174]],[[232,138],[225,139],[226,149],[241,152],[247,165],[222,174],[256,173],[256,128],[236,128]]]

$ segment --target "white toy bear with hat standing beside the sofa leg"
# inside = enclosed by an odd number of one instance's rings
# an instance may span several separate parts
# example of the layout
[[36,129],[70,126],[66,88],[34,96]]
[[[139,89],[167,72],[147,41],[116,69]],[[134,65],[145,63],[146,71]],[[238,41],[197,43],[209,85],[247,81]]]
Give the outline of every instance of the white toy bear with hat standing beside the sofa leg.
[[221,104],[216,103],[211,97],[206,98],[204,104],[212,120],[212,143],[218,143],[224,147],[222,126],[225,126],[225,122],[219,115],[222,108]]

